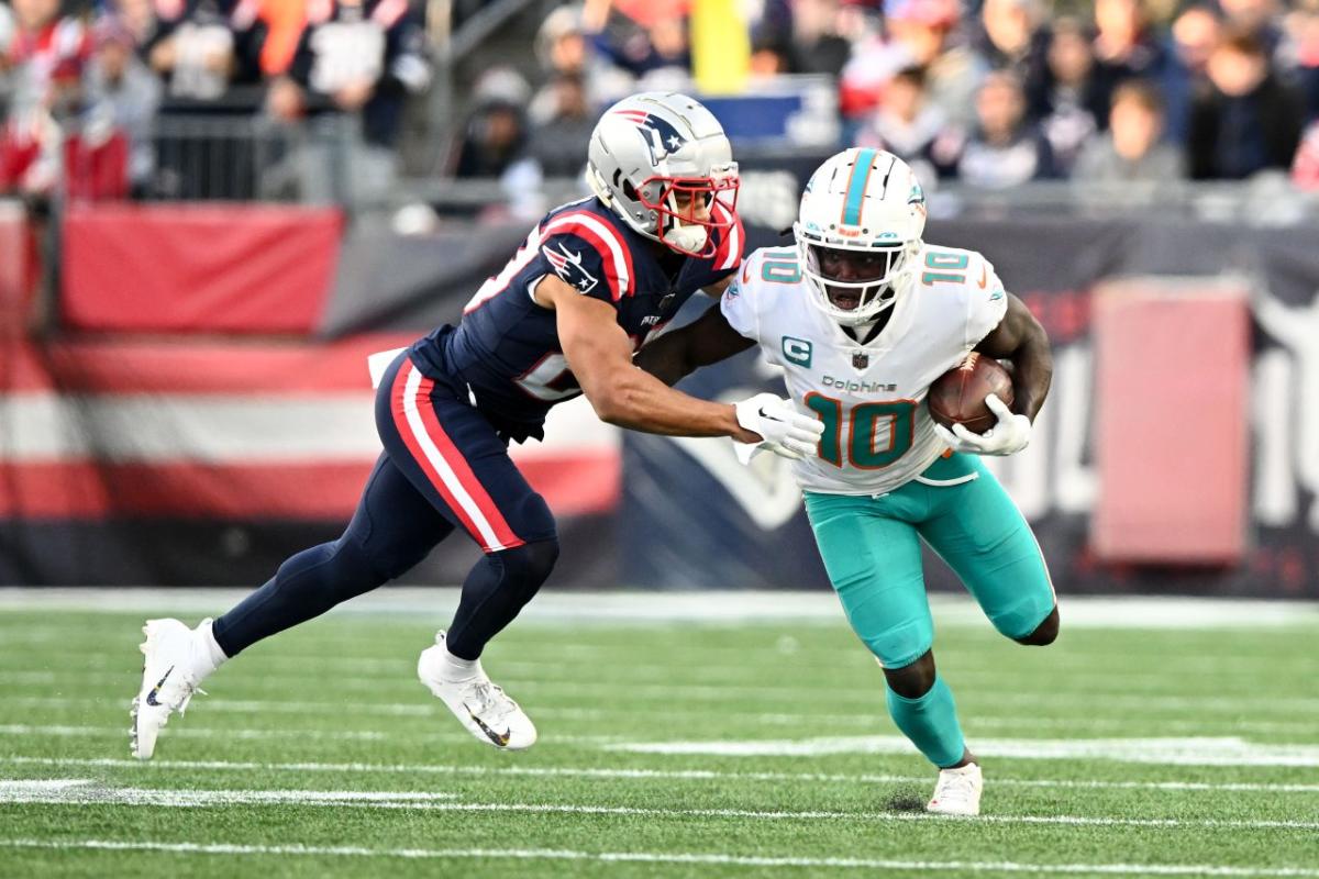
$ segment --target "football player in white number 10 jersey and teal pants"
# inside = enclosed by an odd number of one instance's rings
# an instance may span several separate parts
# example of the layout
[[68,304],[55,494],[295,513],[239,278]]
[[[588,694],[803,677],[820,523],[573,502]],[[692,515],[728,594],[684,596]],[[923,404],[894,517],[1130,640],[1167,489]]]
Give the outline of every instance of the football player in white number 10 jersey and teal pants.
[[[824,426],[816,453],[793,463],[824,568],[884,668],[893,721],[939,768],[926,808],[977,814],[980,767],[935,672],[919,542],[1000,633],[1041,646],[1058,637],[1039,544],[979,459],[1030,441],[1053,358],[1043,328],[983,256],[925,244],[925,213],[896,156],[834,156],[802,195],[795,246],[753,253],[718,308],[657,339],[637,364],[675,382],[758,344],[783,368],[789,397]],[[935,424],[923,405],[971,351],[1012,364],[1014,401],[989,398],[998,420],[983,435]]]

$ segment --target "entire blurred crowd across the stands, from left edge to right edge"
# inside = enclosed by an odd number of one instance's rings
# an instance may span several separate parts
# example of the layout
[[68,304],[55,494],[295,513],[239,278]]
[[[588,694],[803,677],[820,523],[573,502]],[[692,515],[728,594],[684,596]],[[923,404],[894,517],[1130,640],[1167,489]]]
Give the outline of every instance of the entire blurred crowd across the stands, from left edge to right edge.
[[[477,55],[499,61],[460,117],[433,120],[451,148],[431,170],[579,174],[609,101],[694,88],[698,3],[751,12],[745,91],[832,78],[840,145],[889,149],[931,186],[1273,171],[1319,187],[1319,0],[586,0],[549,12],[534,51]],[[352,120],[388,175],[437,40],[483,5],[427,29],[421,0],[0,0],[0,194],[63,174],[91,196],[253,195],[198,188],[186,150],[166,157],[162,138],[206,119]],[[251,161],[227,149],[207,161]],[[314,188],[315,154],[293,158]]]

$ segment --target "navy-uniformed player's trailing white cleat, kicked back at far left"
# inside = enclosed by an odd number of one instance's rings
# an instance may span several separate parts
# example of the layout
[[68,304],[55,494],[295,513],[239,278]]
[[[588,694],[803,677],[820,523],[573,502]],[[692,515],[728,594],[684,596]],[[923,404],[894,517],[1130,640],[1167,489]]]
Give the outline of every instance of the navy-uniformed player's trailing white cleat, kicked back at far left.
[[[206,619],[202,626],[210,622]],[[142,687],[129,712],[133,718],[129,750],[138,760],[149,760],[170,713],[182,716],[193,693],[204,693],[198,684],[212,668],[199,656],[203,650],[199,633],[178,619],[148,619],[142,634],[146,635],[140,644]]]

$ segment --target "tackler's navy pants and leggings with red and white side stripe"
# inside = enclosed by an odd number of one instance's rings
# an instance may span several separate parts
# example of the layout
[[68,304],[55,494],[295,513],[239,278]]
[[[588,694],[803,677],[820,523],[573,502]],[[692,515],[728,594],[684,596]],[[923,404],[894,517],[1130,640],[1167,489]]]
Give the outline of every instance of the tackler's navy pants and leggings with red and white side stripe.
[[558,557],[554,517],[466,385],[433,381],[400,354],[376,393],[376,430],[385,451],[343,535],[288,559],[215,621],[228,656],[405,573],[455,527],[485,552],[448,629],[455,655],[480,656],[545,582]]

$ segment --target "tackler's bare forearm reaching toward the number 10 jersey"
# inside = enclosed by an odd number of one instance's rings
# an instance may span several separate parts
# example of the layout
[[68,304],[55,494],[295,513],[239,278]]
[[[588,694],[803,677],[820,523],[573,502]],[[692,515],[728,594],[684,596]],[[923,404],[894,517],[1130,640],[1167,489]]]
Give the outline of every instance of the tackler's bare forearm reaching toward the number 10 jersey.
[[665,436],[732,436],[744,443],[760,438],[737,423],[736,410],[675,391],[648,372],[633,369],[607,386],[586,391],[600,420]]

